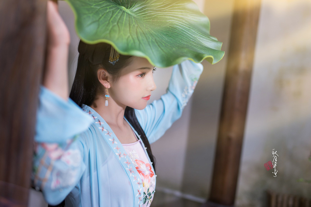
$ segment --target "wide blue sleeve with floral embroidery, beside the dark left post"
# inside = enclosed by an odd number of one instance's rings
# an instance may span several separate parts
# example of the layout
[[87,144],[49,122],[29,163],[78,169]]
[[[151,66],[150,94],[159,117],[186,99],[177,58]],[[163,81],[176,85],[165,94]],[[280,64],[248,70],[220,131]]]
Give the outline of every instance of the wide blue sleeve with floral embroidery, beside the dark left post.
[[31,180],[50,205],[62,202],[85,171],[91,123],[72,99],[40,86]]

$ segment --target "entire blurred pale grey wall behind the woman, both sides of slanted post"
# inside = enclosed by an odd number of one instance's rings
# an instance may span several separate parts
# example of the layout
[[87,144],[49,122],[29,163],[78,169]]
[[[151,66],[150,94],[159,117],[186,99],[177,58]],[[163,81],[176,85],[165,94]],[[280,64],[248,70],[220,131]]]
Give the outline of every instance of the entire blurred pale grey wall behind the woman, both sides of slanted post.
[[[165,135],[151,145],[157,164],[157,191],[204,202],[211,185],[230,27],[232,0],[195,0],[211,21],[211,35],[223,42],[224,58],[215,65],[203,61],[204,71],[193,96]],[[74,16],[65,1],[59,11],[71,33],[70,87],[77,66],[78,38]],[[247,123],[235,205],[265,206],[264,191],[311,198],[311,1],[262,0],[255,48]],[[168,86],[172,67],[154,74],[157,90],[151,103]],[[172,143],[179,143],[170,148]],[[276,169],[267,171],[277,151]],[[155,196],[156,199],[157,196]],[[47,206],[31,191],[29,206]]]

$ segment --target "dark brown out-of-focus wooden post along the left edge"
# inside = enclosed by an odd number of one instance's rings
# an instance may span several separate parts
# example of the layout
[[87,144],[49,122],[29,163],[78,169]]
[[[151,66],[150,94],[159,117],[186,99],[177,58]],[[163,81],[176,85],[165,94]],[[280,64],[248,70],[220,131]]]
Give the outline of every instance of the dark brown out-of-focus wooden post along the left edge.
[[0,206],[27,206],[47,0],[0,1]]

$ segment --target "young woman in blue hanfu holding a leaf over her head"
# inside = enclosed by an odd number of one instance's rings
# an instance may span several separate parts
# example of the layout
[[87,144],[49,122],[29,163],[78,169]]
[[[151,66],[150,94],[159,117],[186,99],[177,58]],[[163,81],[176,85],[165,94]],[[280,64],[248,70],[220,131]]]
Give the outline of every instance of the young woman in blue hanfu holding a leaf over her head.
[[111,45],[80,41],[68,97],[69,32],[50,0],[47,20],[34,186],[50,205],[65,200],[66,207],[150,206],[156,187],[150,144],[182,115],[202,64],[187,60],[174,65],[166,93],[147,105],[156,89],[156,69],[146,58],[119,55],[113,65],[109,62]]

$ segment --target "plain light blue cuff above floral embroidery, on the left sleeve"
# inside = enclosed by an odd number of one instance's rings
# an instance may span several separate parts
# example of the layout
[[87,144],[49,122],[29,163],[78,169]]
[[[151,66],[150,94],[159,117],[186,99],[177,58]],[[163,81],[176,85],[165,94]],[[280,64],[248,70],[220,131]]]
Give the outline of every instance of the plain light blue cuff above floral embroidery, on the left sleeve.
[[36,118],[36,142],[66,142],[92,123],[92,118],[71,98],[65,101],[42,85]]

